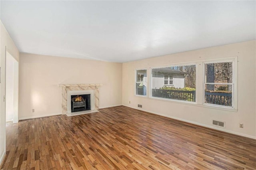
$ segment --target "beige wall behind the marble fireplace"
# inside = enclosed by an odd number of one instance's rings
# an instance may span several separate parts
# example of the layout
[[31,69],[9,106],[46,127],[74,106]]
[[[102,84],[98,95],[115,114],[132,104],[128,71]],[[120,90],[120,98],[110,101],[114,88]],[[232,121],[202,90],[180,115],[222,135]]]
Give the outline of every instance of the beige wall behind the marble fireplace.
[[60,114],[58,85],[90,83],[103,84],[100,108],[122,105],[122,63],[20,53],[19,119]]

